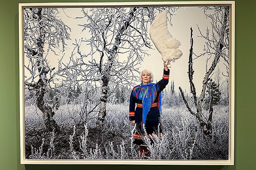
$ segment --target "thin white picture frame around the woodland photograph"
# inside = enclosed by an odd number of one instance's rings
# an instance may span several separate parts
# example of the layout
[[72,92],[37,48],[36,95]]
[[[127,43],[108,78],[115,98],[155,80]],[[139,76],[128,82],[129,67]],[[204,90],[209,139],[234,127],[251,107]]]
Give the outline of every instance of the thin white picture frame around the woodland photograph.
[[[226,160],[146,160],[146,159],[27,159],[25,147],[25,87],[24,87],[24,9],[26,8],[99,8],[139,6],[229,6],[229,146]],[[197,29],[197,28],[194,28]],[[203,29],[203,28],[202,28]],[[189,49],[188,49],[189,50]],[[20,56],[20,154],[21,164],[140,164],[140,165],[234,165],[235,135],[235,1],[183,2],[118,2],[118,3],[19,3]],[[189,90],[189,89],[187,89]]]

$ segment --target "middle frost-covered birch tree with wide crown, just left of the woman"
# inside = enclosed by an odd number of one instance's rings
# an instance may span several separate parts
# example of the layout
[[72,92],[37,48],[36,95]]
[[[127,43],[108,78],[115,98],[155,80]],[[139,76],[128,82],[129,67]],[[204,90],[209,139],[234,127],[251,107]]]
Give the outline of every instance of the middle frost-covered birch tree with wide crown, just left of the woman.
[[[82,9],[83,17],[77,17],[85,19],[80,26],[90,33],[90,37],[74,43],[81,58],[80,76],[85,81],[101,84],[97,127],[104,122],[107,97],[114,92],[111,89],[132,85],[136,80],[139,64],[148,55],[146,50],[152,47],[148,26],[165,9],[169,9],[170,15],[177,10],[171,7],[91,8]],[[82,48],[89,52],[83,52]]]

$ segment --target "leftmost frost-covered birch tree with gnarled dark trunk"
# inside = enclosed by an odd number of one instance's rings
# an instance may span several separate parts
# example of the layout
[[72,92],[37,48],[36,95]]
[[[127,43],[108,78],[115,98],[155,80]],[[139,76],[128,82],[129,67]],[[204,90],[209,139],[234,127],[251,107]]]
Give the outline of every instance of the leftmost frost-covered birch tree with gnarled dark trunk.
[[44,101],[44,95],[63,68],[55,72],[56,68],[50,66],[47,56],[50,52],[56,56],[57,52],[63,52],[65,41],[70,38],[70,28],[57,14],[55,8],[24,9],[24,56],[28,60],[24,83],[26,89],[34,92],[36,105],[43,113],[48,131],[57,131],[58,125],[53,119],[54,111]]

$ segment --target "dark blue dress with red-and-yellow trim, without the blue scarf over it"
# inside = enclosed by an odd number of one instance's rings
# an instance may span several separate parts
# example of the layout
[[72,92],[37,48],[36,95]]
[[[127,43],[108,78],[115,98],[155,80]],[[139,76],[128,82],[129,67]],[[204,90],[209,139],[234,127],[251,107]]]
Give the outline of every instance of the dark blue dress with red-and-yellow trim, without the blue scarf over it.
[[[160,92],[166,87],[166,85],[169,82],[169,73],[168,71],[163,71],[163,78],[158,83],[156,83],[157,90],[157,97],[155,99],[155,103],[159,104],[159,95]],[[136,88],[135,86],[133,90]],[[130,96],[130,108],[129,108],[129,119],[135,120],[136,123],[136,133],[134,134],[134,144],[142,145],[144,142],[142,141],[142,136],[145,135],[145,132],[143,130],[143,123],[142,123],[142,107],[136,107],[136,104],[142,104],[142,100],[136,98],[136,96],[133,95],[133,92]],[[160,110],[158,107],[151,107],[147,117],[146,117],[146,123],[145,123],[145,130],[148,135],[150,134],[162,134],[162,129],[160,125]]]

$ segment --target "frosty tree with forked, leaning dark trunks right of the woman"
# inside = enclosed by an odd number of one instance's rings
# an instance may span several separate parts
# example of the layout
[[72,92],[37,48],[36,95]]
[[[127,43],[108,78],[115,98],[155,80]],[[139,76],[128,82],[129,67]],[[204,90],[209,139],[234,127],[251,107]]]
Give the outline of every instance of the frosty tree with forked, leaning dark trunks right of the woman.
[[[194,40],[192,37],[192,28],[191,28],[191,36],[190,36],[190,54],[189,54],[189,68],[188,68],[188,75],[189,75],[189,84],[190,84],[190,93],[192,96],[187,98],[184,96],[183,90],[179,87],[181,96],[183,101],[189,110],[189,112],[194,115],[200,122],[201,127],[203,128],[203,132],[206,135],[212,135],[212,115],[213,115],[213,101],[210,101],[210,108],[209,108],[209,117],[207,118],[203,112],[203,105],[205,101],[206,95],[206,87],[207,83],[210,80],[210,77],[213,75],[214,70],[217,64],[222,57],[224,59],[224,64],[226,66],[226,74],[229,76],[229,6],[213,6],[213,7],[203,7],[203,11],[206,17],[209,17],[212,24],[212,30],[206,30],[206,35],[200,31],[200,36],[206,40],[206,45],[204,46],[204,53],[196,56],[196,58],[208,55],[209,59],[207,59],[207,64],[210,64],[210,68],[208,69],[208,65],[206,64],[206,73],[203,78],[202,82],[202,90],[200,96],[198,98],[195,84],[193,82],[193,44]],[[210,59],[212,62],[209,62]],[[209,62],[209,63],[208,63]],[[192,107],[190,107],[189,102],[195,106],[194,111]]]

